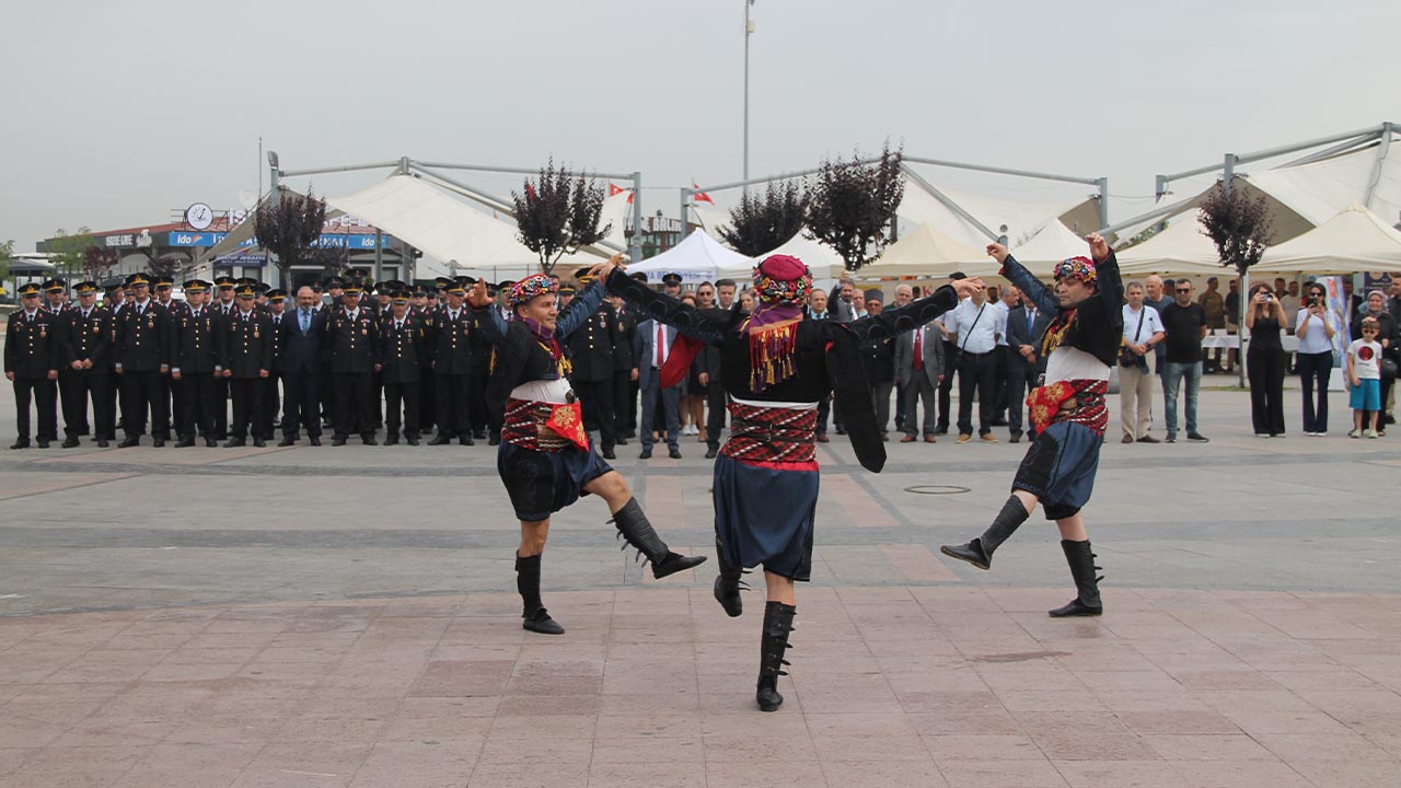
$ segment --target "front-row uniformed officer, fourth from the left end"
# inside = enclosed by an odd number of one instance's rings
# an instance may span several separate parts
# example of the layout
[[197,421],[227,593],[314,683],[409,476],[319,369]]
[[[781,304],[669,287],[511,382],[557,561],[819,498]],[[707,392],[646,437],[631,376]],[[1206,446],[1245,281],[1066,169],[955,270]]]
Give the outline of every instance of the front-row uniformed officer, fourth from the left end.
[[175,335],[175,349],[171,351],[171,381],[175,386],[175,433],[177,449],[195,444],[195,435],[205,439],[205,446],[213,447],[214,412],[223,408],[214,390],[214,379],[223,380],[224,362],[219,353],[219,328],[226,320],[205,304],[212,282],[191,279],[185,282],[185,307],[171,317]]

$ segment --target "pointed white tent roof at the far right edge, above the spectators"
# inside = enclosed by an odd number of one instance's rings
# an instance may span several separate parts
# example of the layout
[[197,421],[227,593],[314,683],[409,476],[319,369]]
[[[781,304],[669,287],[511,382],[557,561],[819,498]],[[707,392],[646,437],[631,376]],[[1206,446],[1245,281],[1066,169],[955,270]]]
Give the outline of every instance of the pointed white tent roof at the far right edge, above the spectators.
[[1318,229],[1265,250],[1251,273],[1366,273],[1401,271],[1401,231],[1387,226],[1360,203],[1328,219]]

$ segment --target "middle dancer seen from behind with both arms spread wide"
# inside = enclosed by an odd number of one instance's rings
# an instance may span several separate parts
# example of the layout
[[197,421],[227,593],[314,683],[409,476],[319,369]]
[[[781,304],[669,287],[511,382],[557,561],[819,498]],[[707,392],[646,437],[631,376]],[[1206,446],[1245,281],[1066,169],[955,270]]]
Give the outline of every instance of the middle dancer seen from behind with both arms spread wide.
[[[762,711],[783,702],[778,677],[787,662],[789,632],[797,613],[794,580],[813,566],[813,517],[818,468],[814,453],[817,405],[829,393],[846,419],[862,466],[880,471],[880,443],[870,387],[862,372],[860,342],[897,337],[953,308],[960,294],[982,287],[976,279],[940,287],[933,296],[855,322],[803,318],[813,275],[800,259],[772,255],[754,269],[754,313],[700,311],[654,293],[621,271],[608,289],[681,331],[663,365],[661,384],[679,376],[702,344],[720,349],[720,379],[729,394],[731,433],[715,460],[715,531],[720,576],[715,597],[740,616],[741,572],[764,566],[768,603],[759,651],[755,701]],[[957,290],[955,290],[957,287]]]

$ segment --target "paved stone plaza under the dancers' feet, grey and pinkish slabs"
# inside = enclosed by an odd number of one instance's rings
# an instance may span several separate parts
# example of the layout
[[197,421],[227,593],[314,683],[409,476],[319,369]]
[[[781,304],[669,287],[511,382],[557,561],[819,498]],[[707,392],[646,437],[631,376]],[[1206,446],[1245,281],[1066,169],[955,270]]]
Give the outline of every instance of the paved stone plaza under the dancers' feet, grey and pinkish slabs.
[[[1401,432],[1349,440],[1337,393],[1330,437],[1259,440],[1206,391],[1209,444],[1121,446],[1112,401],[1098,620],[1045,616],[1040,517],[992,572],[937,555],[1005,501],[1005,429],[880,475],[834,436],[772,715],[761,593],[731,620],[713,559],[651,580],[594,499],[545,554],[567,634],[523,632],[485,444],[0,451],[0,785],[1401,785]],[[615,467],[713,552],[682,451]]]

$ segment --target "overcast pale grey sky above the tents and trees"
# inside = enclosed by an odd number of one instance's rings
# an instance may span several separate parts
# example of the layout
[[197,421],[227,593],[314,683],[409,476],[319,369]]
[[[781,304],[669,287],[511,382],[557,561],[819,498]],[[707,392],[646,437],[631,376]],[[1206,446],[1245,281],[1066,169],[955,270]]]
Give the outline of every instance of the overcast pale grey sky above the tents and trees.
[[[741,172],[743,1],[4,3],[0,240],[32,251],[59,227],[237,208],[259,136],[284,168],[553,154],[642,170],[671,186],[646,192],[649,213],[674,215],[675,186]],[[1401,121],[1395,0],[757,0],[752,15],[754,175],[890,137],[1108,175],[1124,219],[1157,172]]]

